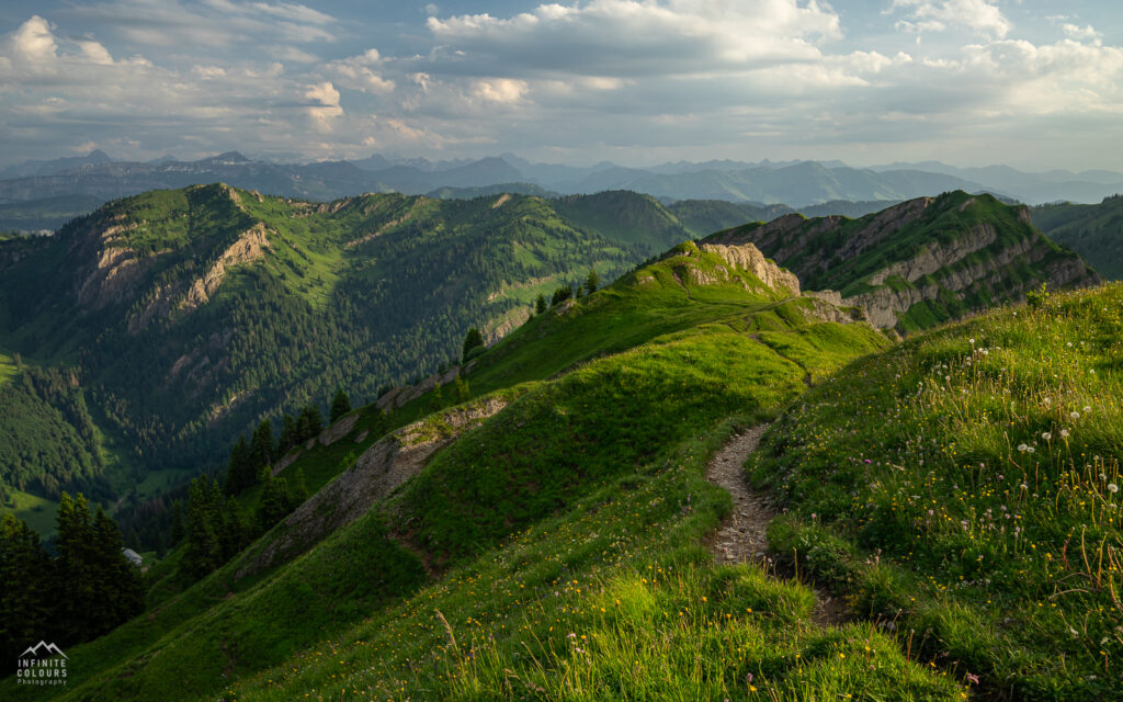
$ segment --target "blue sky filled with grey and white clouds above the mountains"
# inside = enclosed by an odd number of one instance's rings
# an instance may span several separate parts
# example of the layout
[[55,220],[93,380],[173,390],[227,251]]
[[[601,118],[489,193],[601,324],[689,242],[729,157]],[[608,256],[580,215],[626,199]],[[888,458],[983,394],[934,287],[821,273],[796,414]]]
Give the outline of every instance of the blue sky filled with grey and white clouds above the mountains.
[[1119,0],[0,3],[0,164],[1123,170]]

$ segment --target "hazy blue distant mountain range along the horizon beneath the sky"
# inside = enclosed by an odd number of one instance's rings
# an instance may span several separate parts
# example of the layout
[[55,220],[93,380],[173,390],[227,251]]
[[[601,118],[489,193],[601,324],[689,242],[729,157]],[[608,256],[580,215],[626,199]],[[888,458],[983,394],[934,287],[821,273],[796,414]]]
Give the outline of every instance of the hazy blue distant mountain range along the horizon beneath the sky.
[[[138,163],[101,151],[55,161],[28,161],[0,171],[0,229],[54,229],[104,202],[149,190],[222,181],[267,194],[332,200],[400,192],[473,198],[496,192],[542,197],[632,190],[664,203],[724,200],[789,211],[833,202],[875,206],[829,213],[859,215],[951,190],[990,192],[1028,203],[1098,202],[1123,192],[1123,174],[1107,171],[1024,173],[1008,166],[957,168],[938,162],[868,168],[841,162],[707,161],[626,167],[603,162],[578,167],[533,163],[513,154],[477,161],[430,162],[373,155],[357,161],[281,164],[228,152],[199,161],[173,156]],[[815,212],[828,213],[828,212]]]

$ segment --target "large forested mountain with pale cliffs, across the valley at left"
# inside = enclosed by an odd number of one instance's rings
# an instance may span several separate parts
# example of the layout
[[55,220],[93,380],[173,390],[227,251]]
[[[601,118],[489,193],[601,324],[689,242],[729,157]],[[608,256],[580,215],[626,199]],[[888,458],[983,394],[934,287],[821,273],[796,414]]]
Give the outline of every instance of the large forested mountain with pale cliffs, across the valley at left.
[[[62,423],[6,445],[24,458],[0,481],[116,500],[153,471],[199,472],[263,417],[339,386],[374,399],[456,358],[469,326],[495,338],[538,294],[591,267],[612,280],[683,238],[638,241],[611,212],[597,225],[535,197],[319,203],[207,185],[0,241],[0,346],[65,376],[82,405],[31,393]],[[25,385],[0,388],[0,408],[30,407]]]

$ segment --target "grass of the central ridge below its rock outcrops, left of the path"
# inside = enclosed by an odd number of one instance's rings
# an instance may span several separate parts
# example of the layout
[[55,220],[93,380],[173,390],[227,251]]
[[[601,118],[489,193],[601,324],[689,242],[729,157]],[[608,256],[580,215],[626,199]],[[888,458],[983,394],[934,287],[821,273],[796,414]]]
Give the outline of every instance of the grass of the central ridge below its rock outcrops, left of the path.
[[[714,568],[700,548],[729,510],[702,471],[736,422],[711,428],[730,414],[751,422],[773,413],[803,390],[809,368],[827,373],[885,344],[860,326],[788,326],[780,356],[755,338],[746,309],[712,309],[720,323],[532,384],[437,455],[390,519],[449,559],[445,578],[385,608],[378,602],[399,590],[347,594],[385,573],[375,557],[399,564],[383,578],[396,586],[408,590],[416,575],[413,556],[382,538],[386,518],[372,510],[232,599],[222,600],[228,566],[170,601],[165,610],[176,614],[158,610],[69,651],[66,698],[212,696],[272,665],[223,696],[685,700],[700,690],[715,699],[893,690],[951,699],[951,681],[868,626],[811,624],[804,586],[750,566]],[[764,316],[777,344],[783,318]],[[707,438],[693,438],[700,434]],[[519,503],[509,505],[512,521],[489,519],[496,499]],[[348,549],[357,555],[340,557]],[[311,611],[298,617],[298,607]]]

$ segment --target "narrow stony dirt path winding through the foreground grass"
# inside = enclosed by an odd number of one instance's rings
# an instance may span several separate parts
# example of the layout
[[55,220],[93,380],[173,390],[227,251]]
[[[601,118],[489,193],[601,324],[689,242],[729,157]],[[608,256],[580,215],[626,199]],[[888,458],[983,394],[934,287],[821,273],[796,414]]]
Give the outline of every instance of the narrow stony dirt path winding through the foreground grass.
[[[764,563],[775,573],[775,563],[768,556],[765,532],[776,511],[745,482],[745,461],[757,449],[767,425],[760,425],[730,438],[706,468],[706,478],[729,491],[733,498],[730,514],[714,536],[710,550],[718,563]],[[812,621],[820,627],[837,624],[846,619],[842,600],[830,592],[814,589],[815,611]]]

